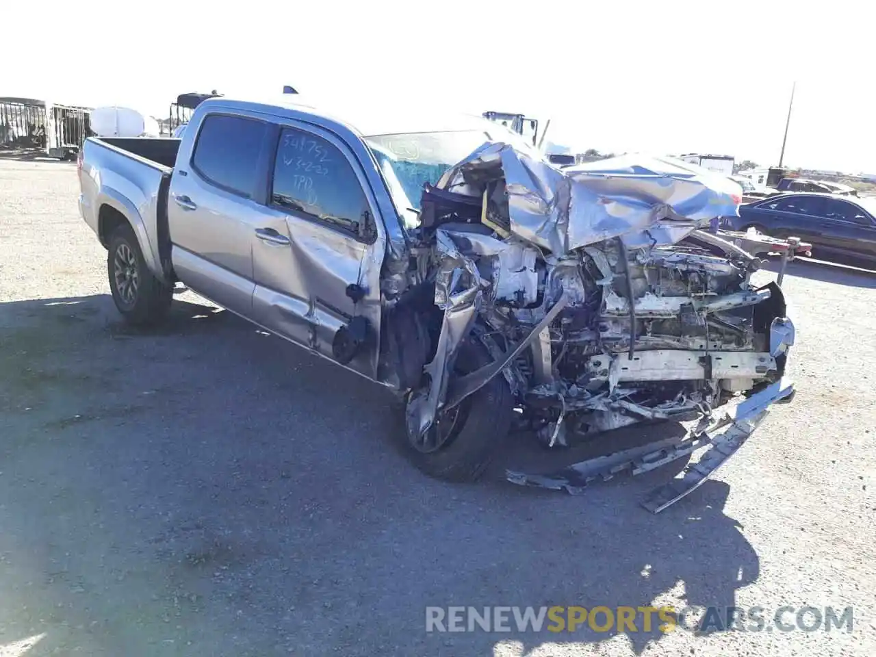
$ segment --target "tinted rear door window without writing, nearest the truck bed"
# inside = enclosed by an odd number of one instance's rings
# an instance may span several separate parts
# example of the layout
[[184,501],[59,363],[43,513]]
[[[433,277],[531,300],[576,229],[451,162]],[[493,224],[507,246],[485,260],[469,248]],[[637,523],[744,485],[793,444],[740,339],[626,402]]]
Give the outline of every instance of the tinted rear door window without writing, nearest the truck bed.
[[267,124],[212,114],[201,123],[194,145],[194,170],[216,187],[252,198]]

